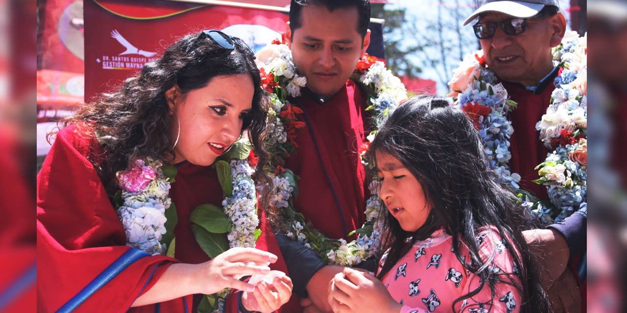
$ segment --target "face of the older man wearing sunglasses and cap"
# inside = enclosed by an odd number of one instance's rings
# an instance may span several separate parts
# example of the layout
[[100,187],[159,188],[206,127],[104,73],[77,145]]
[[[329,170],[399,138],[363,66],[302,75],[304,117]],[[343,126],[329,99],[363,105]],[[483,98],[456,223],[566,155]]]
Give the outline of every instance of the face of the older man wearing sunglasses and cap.
[[[485,13],[479,23],[510,19],[503,13]],[[527,19],[527,30],[514,36],[500,26],[492,38],[480,39],[485,60],[499,78],[525,86],[535,86],[553,68],[551,48],[557,46],[552,17]],[[563,34],[562,34],[563,36]]]

